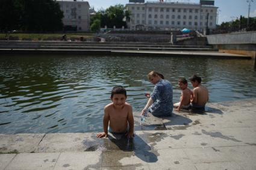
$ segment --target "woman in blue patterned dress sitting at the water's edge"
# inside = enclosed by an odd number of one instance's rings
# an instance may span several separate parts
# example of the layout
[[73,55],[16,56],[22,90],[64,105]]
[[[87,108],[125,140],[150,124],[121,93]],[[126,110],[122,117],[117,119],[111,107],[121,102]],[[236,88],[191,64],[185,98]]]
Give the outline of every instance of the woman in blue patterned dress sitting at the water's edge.
[[151,94],[145,94],[146,97],[149,97],[149,100],[142,110],[141,115],[151,112],[155,117],[171,116],[173,110],[172,84],[164,80],[163,74],[157,73],[156,71],[148,73],[148,79],[155,87]]

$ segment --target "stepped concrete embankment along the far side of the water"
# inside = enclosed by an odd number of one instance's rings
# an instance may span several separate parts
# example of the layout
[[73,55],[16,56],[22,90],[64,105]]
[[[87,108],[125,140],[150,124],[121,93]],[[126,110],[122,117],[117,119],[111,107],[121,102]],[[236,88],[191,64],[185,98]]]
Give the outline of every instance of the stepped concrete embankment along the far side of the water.
[[134,56],[187,56],[213,58],[243,58],[217,52],[212,46],[175,46],[170,43],[123,43],[80,41],[0,41],[1,54],[67,54],[67,55],[134,55]]

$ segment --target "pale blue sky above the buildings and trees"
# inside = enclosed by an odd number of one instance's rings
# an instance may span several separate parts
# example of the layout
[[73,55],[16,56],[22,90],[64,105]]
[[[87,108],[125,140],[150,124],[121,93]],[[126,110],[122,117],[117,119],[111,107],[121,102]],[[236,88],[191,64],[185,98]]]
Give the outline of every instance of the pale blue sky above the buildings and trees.
[[[64,0],[69,1],[69,0]],[[71,0],[70,0],[71,1]],[[77,0],[82,1],[82,0]],[[86,1],[86,0],[83,0]],[[90,7],[94,7],[96,11],[103,8],[106,9],[111,5],[116,4],[128,4],[129,0],[87,0],[90,4]],[[147,0],[145,0],[146,2]],[[149,0],[157,1],[157,0]],[[164,0],[164,2],[190,2],[190,3],[199,3],[200,0]],[[240,15],[248,17],[248,5],[252,0],[215,0],[215,6],[218,8],[219,19],[218,24],[222,22],[228,22],[237,18],[240,18]],[[256,0],[251,2],[250,17],[256,17]]]

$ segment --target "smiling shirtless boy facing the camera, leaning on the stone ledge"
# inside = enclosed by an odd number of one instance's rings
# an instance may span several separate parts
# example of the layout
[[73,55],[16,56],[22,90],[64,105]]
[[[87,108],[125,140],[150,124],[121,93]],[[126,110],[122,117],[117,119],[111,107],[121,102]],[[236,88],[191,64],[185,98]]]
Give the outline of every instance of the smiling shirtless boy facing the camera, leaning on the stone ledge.
[[[131,105],[125,102],[126,90],[122,86],[114,87],[111,91],[112,103],[104,108],[103,130],[98,133],[97,138],[103,138],[110,133],[123,133],[128,138],[133,137],[134,120]],[[128,126],[129,123],[129,126]]]

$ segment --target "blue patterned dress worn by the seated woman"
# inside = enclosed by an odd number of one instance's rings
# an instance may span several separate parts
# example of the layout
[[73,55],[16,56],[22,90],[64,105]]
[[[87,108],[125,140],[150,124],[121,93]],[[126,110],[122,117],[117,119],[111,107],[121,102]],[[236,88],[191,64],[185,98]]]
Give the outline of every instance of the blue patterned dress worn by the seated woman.
[[149,107],[149,112],[156,117],[171,116],[173,110],[172,96],[172,84],[167,80],[159,80],[150,95],[154,103]]

